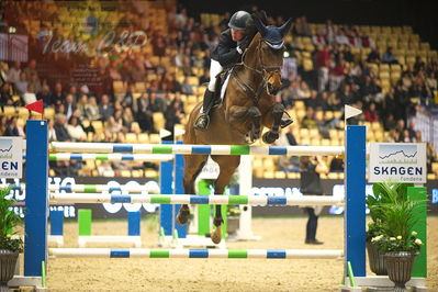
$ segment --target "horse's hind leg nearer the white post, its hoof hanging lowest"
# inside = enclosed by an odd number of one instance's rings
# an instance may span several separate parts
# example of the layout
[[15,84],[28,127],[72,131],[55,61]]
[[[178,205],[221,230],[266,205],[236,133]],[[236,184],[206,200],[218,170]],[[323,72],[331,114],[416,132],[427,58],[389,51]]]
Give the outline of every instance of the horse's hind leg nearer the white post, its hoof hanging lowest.
[[[214,193],[224,194],[225,187],[229,183],[234,171],[240,164],[240,156],[212,156],[212,159],[220,165],[220,175],[214,182]],[[222,217],[221,205],[215,205],[215,210],[213,220],[215,229],[211,233],[211,237],[213,243],[218,244],[222,239],[221,225],[224,223],[224,220]]]

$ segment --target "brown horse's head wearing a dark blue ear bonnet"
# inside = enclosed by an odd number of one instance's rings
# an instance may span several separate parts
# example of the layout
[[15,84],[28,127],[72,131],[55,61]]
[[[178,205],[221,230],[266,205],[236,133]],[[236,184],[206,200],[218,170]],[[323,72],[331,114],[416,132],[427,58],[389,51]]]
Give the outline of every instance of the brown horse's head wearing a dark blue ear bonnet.
[[269,94],[276,94],[281,87],[281,67],[283,66],[284,35],[292,25],[289,19],[282,26],[267,26],[259,18],[255,18],[257,31],[260,33],[258,44],[259,63],[267,81]]

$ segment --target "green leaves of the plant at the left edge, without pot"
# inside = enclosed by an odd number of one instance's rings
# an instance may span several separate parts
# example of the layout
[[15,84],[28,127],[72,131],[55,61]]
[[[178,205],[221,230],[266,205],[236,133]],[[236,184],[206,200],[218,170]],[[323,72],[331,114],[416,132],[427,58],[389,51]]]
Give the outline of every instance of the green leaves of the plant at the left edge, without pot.
[[23,251],[23,240],[16,237],[15,227],[22,224],[22,218],[13,211],[15,200],[7,199],[11,188],[0,189],[0,249]]

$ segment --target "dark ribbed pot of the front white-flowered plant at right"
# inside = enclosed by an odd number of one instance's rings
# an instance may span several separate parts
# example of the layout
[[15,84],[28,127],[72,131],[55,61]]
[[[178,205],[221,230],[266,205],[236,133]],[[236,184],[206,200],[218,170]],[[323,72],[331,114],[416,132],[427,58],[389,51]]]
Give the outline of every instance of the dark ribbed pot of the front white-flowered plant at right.
[[395,284],[394,291],[405,291],[416,256],[417,254],[407,251],[389,251],[384,255],[388,276]]

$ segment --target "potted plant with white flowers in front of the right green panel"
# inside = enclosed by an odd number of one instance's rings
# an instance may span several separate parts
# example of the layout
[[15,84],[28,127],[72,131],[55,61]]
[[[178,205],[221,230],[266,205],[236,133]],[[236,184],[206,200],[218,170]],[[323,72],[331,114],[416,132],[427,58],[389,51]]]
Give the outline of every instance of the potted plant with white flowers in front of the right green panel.
[[395,283],[395,291],[404,291],[405,283],[411,279],[414,259],[423,245],[417,233],[412,231],[417,222],[416,209],[423,204],[422,201],[398,196],[393,203],[375,206],[384,225],[381,234],[371,242],[384,252],[388,276]]

